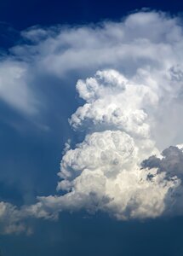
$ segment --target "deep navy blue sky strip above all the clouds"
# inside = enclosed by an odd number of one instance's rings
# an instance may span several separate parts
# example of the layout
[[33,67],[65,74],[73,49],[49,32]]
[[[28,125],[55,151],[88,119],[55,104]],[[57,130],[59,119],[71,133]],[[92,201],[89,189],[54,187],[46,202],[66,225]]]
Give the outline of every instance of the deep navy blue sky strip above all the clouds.
[[161,9],[171,13],[182,11],[180,1],[42,1],[24,2],[1,1],[1,17],[3,22],[12,24],[16,29],[24,29],[32,25],[53,25],[57,23],[88,23],[103,19],[120,19],[127,12],[141,8]]

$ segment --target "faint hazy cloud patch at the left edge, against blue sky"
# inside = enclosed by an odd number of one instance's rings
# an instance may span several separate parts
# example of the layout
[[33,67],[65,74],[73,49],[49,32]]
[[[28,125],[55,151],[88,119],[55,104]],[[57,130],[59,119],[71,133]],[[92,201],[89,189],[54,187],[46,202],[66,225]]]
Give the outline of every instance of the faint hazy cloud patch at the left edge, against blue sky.
[[0,61],[0,98],[26,114],[37,113],[37,100],[31,91],[27,64],[7,58]]

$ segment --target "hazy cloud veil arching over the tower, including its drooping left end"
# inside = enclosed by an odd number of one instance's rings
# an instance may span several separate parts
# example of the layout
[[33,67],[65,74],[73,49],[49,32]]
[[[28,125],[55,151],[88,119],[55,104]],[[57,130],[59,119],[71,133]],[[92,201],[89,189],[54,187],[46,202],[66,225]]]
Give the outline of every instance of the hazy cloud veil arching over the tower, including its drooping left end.
[[[146,76],[149,82],[156,75],[152,80],[157,82],[170,73],[175,78],[182,69],[180,21],[163,13],[139,12],[119,22],[94,26],[33,26],[21,35],[27,44],[9,49],[9,56],[0,61],[2,73],[6,65],[2,85],[6,92],[0,96],[24,112],[32,113],[39,108],[37,101],[43,101],[33,85],[42,83],[40,77],[44,75],[66,80],[68,73],[74,72],[77,77],[86,78],[98,69],[112,68],[127,78],[138,74],[144,80]],[[160,71],[161,78],[157,77]],[[14,77],[14,72],[20,73],[19,78]],[[9,85],[12,83],[14,86]],[[14,97],[12,87],[16,88]]]

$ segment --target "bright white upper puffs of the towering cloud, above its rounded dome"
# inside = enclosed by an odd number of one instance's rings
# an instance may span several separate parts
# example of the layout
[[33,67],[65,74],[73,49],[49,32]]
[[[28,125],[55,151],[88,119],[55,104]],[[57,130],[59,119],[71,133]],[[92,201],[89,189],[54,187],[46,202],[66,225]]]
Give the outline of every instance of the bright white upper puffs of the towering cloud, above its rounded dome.
[[150,136],[142,107],[144,102],[156,104],[157,96],[147,86],[130,83],[117,71],[106,70],[97,72],[86,83],[79,80],[77,90],[87,103],[71,116],[70,124],[75,129],[109,128],[135,133],[136,137]]

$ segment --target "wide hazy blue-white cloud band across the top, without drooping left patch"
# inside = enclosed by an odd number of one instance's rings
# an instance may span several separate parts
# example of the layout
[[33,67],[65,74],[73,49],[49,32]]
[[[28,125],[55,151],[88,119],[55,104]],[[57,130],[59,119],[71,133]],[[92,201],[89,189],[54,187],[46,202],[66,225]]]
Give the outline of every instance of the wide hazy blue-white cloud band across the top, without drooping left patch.
[[172,46],[182,49],[181,33],[178,19],[139,12],[120,22],[96,26],[57,26],[46,30],[33,27],[22,35],[35,44],[13,50],[26,58],[29,52],[37,67],[59,77],[69,71],[85,74],[106,67],[131,74],[138,67],[174,65],[181,54],[174,52]]

